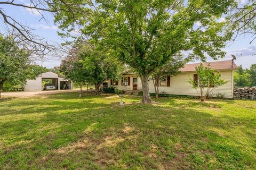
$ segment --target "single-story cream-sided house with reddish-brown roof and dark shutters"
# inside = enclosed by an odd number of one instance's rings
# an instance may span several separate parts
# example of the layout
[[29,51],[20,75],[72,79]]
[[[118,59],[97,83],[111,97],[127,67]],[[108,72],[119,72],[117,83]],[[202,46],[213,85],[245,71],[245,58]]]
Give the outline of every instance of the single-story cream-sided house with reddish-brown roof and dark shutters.
[[[213,94],[219,93],[225,98],[233,98],[234,70],[238,68],[237,65],[230,60],[205,63],[205,65],[207,64],[210,64],[212,69],[220,71],[221,78],[228,81],[226,84],[215,88],[212,91]],[[195,69],[199,65],[200,63],[186,64],[185,67],[180,69],[181,73],[177,76],[167,76],[163,78],[160,82],[159,94],[198,96],[197,90],[193,89],[188,81],[190,79],[198,80]],[[122,73],[121,80],[108,80],[108,84],[124,91],[135,92],[142,90],[139,75],[132,72],[131,70]],[[149,80],[149,91],[150,93],[155,93],[152,80]]]

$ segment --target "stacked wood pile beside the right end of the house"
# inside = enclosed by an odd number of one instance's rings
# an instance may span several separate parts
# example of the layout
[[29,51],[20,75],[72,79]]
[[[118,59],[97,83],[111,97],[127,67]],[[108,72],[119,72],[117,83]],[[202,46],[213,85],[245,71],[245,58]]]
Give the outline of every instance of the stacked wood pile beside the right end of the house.
[[250,96],[256,97],[256,87],[234,89],[234,99],[249,99]]

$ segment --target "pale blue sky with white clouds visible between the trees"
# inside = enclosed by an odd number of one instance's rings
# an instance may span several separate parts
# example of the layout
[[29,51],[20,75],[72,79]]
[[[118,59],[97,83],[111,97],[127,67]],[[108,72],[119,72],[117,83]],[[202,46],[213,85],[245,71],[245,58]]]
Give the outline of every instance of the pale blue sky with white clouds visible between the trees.
[[[26,0],[16,0],[17,3],[24,2]],[[246,0],[244,0],[246,1]],[[26,2],[25,2],[26,3]],[[45,13],[47,21],[41,20],[41,15],[37,11],[31,11],[28,8],[23,7],[13,7],[9,5],[1,5],[0,7],[4,8],[6,14],[12,16],[17,21],[22,24],[25,24],[34,29],[34,34],[40,37],[45,38],[46,40],[52,43],[62,43],[63,40],[58,36],[58,25],[53,24],[53,16],[50,13]],[[0,19],[0,24],[3,25],[2,18]],[[0,31],[3,31],[3,28],[0,27]],[[231,60],[230,54],[233,54],[237,57],[235,63],[237,65],[242,65],[243,68],[249,68],[251,64],[256,64],[256,40],[251,44],[252,40],[251,35],[242,35],[236,38],[235,41],[230,41],[227,43],[226,47],[223,48],[223,51],[227,52],[226,56],[220,60]],[[213,61],[211,58],[208,58],[207,61]],[[199,62],[199,61],[195,61]],[[46,60],[43,61],[43,66],[51,69],[54,66],[59,66],[61,63],[61,58],[59,57],[46,57]],[[41,61],[37,61],[37,64],[41,65]]]

